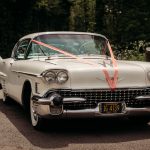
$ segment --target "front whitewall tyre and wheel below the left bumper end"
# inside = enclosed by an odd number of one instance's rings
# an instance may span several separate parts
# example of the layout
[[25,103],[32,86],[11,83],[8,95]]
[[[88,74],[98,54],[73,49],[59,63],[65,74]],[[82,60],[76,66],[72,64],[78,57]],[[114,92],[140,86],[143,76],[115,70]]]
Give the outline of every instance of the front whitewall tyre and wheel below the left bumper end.
[[34,103],[32,99],[30,99],[30,116],[31,116],[31,124],[32,126],[37,129],[41,130],[43,125],[43,119],[38,116],[35,111]]

